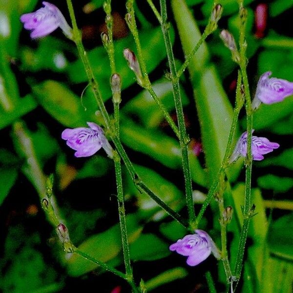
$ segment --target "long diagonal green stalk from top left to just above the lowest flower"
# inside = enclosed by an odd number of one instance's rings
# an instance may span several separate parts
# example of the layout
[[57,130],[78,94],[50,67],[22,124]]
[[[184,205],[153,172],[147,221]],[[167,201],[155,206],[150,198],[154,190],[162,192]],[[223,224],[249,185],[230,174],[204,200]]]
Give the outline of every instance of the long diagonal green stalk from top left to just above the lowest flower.
[[[95,96],[95,99],[97,101],[98,107],[100,108],[101,113],[103,115],[103,118],[105,120],[105,126],[110,130],[110,135],[111,135],[112,141],[113,141],[116,149],[118,150],[118,152],[119,152],[119,154],[120,154],[120,156],[121,156],[121,158],[122,158],[122,160],[123,160],[123,162],[124,162],[124,164],[126,166],[126,169],[127,169],[128,173],[130,174],[131,179],[133,180],[134,184],[136,186],[138,186],[138,183],[142,183],[142,181],[139,178],[138,174],[136,173],[132,163],[130,162],[130,160],[129,160],[127,154],[126,154],[126,151],[125,151],[124,147],[122,146],[119,137],[117,136],[115,127],[114,127],[114,129],[112,127],[110,117],[109,117],[108,112],[107,112],[107,110],[105,108],[105,105],[104,105],[104,102],[103,102],[103,99],[102,99],[102,96],[101,96],[101,93],[100,93],[100,90],[99,90],[98,83],[97,83],[97,81],[95,79],[95,76],[93,75],[93,72],[92,72],[92,69],[91,69],[87,54],[84,51],[84,46],[83,46],[83,43],[82,43],[81,34],[80,34],[79,29],[77,27],[72,2],[71,2],[71,0],[66,0],[66,2],[67,2],[69,14],[70,14],[70,18],[71,18],[72,26],[73,26],[74,42],[77,45],[81,61],[84,64],[84,69],[85,69],[85,72],[86,72],[86,75],[87,75],[87,78],[88,78],[88,82],[91,85],[91,88],[92,88],[93,94]],[[180,217],[180,215],[178,213],[176,213],[174,210],[170,209],[152,191],[150,191],[149,189],[143,189],[143,190],[146,192],[146,194],[148,196],[150,196],[153,200],[155,200],[155,202],[162,209],[165,209],[165,211],[170,216],[172,216],[175,220],[178,221],[178,219],[181,219],[181,217]],[[149,193],[148,193],[148,190],[150,191]],[[181,225],[185,226],[184,221],[180,220],[179,223]]]

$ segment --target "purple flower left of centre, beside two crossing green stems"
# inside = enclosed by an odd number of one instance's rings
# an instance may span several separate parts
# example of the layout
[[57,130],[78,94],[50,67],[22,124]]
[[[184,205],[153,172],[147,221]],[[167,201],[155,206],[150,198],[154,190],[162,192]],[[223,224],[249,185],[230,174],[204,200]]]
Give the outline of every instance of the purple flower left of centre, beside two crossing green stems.
[[66,140],[67,146],[76,150],[76,157],[89,157],[101,147],[107,155],[113,157],[113,149],[105,138],[103,129],[93,122],[87,122],[90,127],[66,128],[61,137]]

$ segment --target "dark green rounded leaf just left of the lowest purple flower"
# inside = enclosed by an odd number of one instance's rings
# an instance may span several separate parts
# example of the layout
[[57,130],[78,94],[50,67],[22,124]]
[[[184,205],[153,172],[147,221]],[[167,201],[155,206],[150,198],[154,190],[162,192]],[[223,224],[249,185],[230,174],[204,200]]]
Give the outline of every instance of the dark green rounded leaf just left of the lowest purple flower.
[[131,243],[129,250],[134,261],[157,260],[170,254],[167,243],[154,234],[141,234]]

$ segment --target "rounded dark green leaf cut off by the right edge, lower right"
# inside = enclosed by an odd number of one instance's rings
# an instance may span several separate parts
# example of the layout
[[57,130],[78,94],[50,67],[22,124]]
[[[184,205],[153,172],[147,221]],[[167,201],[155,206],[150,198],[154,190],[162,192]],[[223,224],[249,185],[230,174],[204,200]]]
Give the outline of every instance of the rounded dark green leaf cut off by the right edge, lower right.
[[293,260],[293,212],[274,221],[268,233],[270,251],[282,258]]

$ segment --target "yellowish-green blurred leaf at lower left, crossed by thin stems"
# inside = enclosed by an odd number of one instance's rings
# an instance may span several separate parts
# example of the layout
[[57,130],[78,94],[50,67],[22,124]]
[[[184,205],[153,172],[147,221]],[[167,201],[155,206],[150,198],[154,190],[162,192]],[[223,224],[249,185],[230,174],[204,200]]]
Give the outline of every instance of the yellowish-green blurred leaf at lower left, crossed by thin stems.
[[[127,215],[126,225],[128,241],[131,243],[139,237],[142,227],[138,225],[138,219],[135,214]],[[103,262],[108,262],[117,258],[122,250],[119,224],[116,224],[105,232],[89,237],[78,248]],[[116,265],[117,264],[116,259]],[[97,267],[96,264],[84,259],[78,254],[71,254],[67,262],[67,271],[71,276],[83,275]]]

